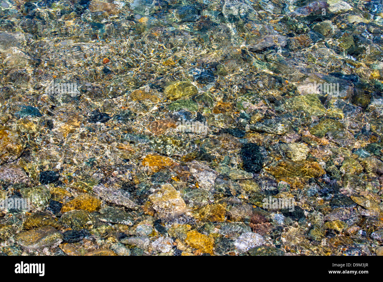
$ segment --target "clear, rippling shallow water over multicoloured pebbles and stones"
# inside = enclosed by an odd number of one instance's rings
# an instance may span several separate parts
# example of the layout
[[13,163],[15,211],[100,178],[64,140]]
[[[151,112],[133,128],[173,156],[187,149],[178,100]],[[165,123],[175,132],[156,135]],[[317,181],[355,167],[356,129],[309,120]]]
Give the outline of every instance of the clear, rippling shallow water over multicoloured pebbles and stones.
[[379,255],[379,1],[0,2],[0,251]]

